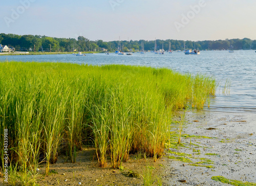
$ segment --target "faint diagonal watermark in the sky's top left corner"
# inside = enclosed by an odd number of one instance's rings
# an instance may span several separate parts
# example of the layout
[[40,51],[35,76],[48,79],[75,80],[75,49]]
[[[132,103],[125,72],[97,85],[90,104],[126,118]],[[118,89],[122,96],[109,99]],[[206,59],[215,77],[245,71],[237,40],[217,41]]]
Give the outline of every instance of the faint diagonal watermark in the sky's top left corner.
[[10,27],[10,24],[15,22],[19,18],[20,15],[22,15],[30,6],[31,3],[34,3],[36,0],[20,0],[20,6],[18,6],[16,9],[11,9],[11,15],[5,16],[4,20],[6,22],[7,27]]

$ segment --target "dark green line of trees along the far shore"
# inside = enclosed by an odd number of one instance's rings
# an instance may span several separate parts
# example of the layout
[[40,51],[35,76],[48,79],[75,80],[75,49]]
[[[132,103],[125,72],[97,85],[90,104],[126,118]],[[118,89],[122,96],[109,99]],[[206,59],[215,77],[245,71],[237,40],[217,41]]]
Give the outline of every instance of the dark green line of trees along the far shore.
[[[87,52],[87,51],[116,51],[118,49],[118,40],[105,42],[103,40],[91,41],[86,37],[79,36],[78,38],[56,38],[41,35],[16,35],[16,34],[0,34],[0,43],[14,47],[16,51],[45,51],[45,52]],[[129,50],[140,50],[143,42],[144,50],[154,50],[155,40],[122,40],[121,49],[124,52]],[[157,50],[169,49],[184,50],[198,48],[199,50],[249,50],[256,49],[256,40],[249,38],[244,39],[225,39],[225,40],[205,40],[205,41],[184,41],[184,40],[156,40]]]

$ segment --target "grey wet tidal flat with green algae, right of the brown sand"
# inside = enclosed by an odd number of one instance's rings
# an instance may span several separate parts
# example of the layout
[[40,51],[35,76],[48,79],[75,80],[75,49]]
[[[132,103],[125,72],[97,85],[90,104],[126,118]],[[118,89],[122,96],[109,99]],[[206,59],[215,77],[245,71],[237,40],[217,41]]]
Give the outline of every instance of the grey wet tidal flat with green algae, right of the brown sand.
[[[190,124],[184,129],[184,133],[215,138],[191,138],[192,144],[202,147],[192,146],[176,151],[196,158],[208,158],[212,161],[210,165],[215,168],[189,166],[190,163],[169,160],[169,172],[175,176],[166,176],[166,185],[182,185],[177,180],[186,180],[184,185],[229,185],[212,180],[212,176],[256,182],[256,114],[188,112],[186,120]],[[207,130],[208,128],[215,129]],[[190,159],[193,162],[200,161]]]

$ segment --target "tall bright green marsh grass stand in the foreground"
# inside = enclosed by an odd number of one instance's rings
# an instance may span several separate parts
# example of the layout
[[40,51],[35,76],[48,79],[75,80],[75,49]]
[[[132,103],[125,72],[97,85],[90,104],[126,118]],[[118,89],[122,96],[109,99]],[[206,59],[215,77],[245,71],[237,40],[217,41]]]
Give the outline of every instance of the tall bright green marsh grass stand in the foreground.
[[[212,77],[167,68],[1,62],[0,132],[9,132],[9,183],[35,184],[39,165],[48,175],[58,155],[76,162],[84,145],[95,147],[102,168],[120,169],[136,153],[157,161],[174,130],[174,111],[209,106],[216,87]],[[1,135],[1,149],[3,142]]]

